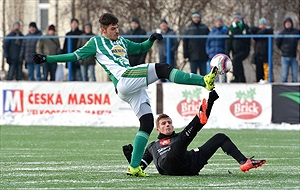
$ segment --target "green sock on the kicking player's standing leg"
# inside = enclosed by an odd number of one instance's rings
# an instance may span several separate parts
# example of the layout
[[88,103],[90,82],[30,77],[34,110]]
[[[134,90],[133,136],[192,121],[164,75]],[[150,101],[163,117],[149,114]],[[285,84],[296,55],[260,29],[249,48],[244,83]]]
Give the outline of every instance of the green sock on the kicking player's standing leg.
[[133,141],[133,152],[130,161],[131,167],[137,168],[140,165],[149,136],[150,135],[144,131],[137,132]]

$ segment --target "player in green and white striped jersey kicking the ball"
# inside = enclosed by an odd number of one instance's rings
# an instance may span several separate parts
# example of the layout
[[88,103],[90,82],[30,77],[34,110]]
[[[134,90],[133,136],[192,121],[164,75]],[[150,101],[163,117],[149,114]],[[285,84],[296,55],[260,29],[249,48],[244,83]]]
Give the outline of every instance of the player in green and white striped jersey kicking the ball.
[[159,79],[169,79],[178,84],[203,86],[207,90],[214,88],[217,67],[205,75],[186,73],[172,68],[169,64],[141,64],[131,67],[128,54],[147,52],[155,40],[162,40],[162,35],[153,33],[142,43],[135,43],[119,36],[119,21],[113,14],[105,13],[100,19],[101,36],[92,37],[83,47],[73,53],[61,55],[35,54],[34,62],[74,62],[93,56],[104,68],[112,80],[118,96],[129,103],[140,121],[140,128],[135,136],[132,158],[127,175],[148,176],[140,167],[145,146],[154,127],[154,118],[146,88]]

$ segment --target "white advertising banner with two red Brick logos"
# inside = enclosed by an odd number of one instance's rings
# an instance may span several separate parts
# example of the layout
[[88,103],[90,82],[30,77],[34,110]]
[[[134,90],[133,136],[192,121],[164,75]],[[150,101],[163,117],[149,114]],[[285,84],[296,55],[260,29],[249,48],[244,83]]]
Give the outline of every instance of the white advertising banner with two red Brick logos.
[[[164,113],[175,127],[184,127],[197,114],[209,92],[203,87],[163,84]],[[206,128],[252,128],[271,123],[271,84],[216,84],[214,103]]]

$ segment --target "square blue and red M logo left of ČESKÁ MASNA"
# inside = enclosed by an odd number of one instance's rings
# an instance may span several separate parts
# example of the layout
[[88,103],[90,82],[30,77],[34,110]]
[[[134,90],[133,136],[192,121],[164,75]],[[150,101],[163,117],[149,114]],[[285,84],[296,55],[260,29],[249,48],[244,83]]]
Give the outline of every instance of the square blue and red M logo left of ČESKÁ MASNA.
[[24,91],[23,90],[3,90],[3,113],[24,112]]

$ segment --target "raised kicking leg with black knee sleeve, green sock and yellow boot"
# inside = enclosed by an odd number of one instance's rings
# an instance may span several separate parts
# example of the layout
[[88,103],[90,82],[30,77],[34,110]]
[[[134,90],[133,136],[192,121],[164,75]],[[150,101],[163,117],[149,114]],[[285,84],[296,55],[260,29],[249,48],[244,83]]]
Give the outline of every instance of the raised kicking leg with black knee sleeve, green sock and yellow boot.
[[[155,64],[155,72],[159,79],[166,78],[177,84],[203,86],[210,91],[215,87],[214,79],[217,76],[218,68],[214,67],[209,74],[201,76],[174,69],[167,63],[157,63]],[[151,83],[151,80],[149,82]]]

